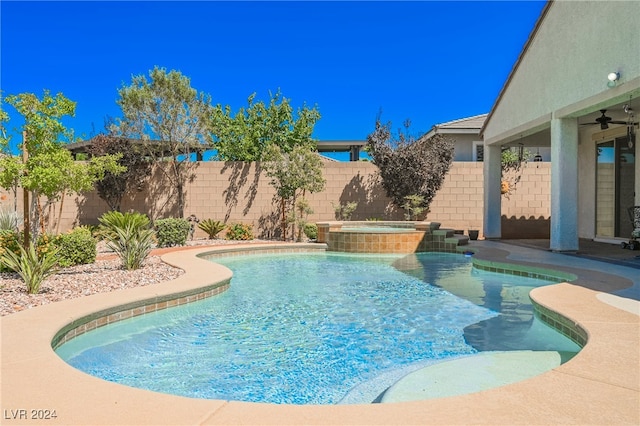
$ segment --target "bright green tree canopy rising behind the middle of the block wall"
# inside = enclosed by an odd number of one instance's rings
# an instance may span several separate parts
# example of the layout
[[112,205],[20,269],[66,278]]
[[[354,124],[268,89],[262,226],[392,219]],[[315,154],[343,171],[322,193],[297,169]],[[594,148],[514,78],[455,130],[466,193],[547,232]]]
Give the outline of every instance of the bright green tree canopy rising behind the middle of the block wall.
[[213,147],[223,161],[261,161],[269,146],[288,153],[298,145],[316,142],[311,138],[320,119],[317,107],[303,105],[294,114],[291,101],[280,93],[269,93],[268,105],[256,101],[256,94],[247,99],[247,106],[233,115],[231,107],[217,105],[210,116]]

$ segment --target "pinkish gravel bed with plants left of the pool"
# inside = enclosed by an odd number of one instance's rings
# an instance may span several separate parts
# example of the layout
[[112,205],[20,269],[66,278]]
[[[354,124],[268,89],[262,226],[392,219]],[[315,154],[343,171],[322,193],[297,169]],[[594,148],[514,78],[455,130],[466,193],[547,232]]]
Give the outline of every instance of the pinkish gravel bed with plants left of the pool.
[[[265,242],[252,240],[247,243]],[[244,242],[243,242],[244,243]],[[195,240],[190,246],[238,244],[238,241]],[[27,287],[16,273],[0,273],[0,316],[65,299],[125,288],[153,285],[177,278],[183,273],[162,262],[159,256],[149,256],[142,268],[135,271],[122,269],[120,260],[104,243],[98,244],[95,263],[61,269],[47,278],[38,294],[28,294]]]

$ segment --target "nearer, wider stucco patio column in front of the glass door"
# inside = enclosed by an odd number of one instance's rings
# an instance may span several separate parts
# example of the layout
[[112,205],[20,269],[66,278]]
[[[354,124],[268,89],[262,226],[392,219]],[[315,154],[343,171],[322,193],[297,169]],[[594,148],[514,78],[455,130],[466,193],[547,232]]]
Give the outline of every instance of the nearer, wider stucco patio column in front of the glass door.
[[578,119],[551,120],[551,243],[578,250]]

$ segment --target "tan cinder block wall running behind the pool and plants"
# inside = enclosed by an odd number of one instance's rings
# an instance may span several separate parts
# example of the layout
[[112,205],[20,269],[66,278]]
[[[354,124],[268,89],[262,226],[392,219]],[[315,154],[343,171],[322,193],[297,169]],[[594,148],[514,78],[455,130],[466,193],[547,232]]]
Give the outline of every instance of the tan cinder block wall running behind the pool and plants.
[[[442,223],[443,227],[480,230],[482,235],[483,176],[482,163],[455,162],[445,182],[434,198],[428,221]],[[195,214],[200,219],[212,218],[227,223],[252,223],[257,236],[279,237],[279,205],[274,202],[274,189],[269,178],[259,173],[256,163],[201,162],[194,169],[194,179],[187,186],[185,216]],[[377,176],[377,167],[369,162],[330,162],[324,165],[327,180],[324,191],[308,194],[313,209],[310,221],[335,219],[334,205],[357,201],[352,220],[403,220],[401,211],[392,208]],[[504,238],[548,237],[550,201],[550,164],[529,163],[523,168],[522,178],[510,198],[503,197]],[[140,192],[127,194],[122,210],[135,210],[154,218],[177,214],[170,186],[161,173]],[[3,207],[12,207],[10,193],[0,190],[5,199]],[[18,191],[21,200],[21,191]],[[19,201],[18,209],[22,203]],[[55,230],[59,203],[54,206]],[[95,191],[81,196],[67,196],[60,222],[64,232],[81,224],[97,224],[98,218],[108,211],[107,204]],[[546,226],[546,230],[544,227]],[[530,229],[529,229],[530,228]],[[541,234],[542,231],[542,234]],[[205,234],[197,230],[196,237]]]

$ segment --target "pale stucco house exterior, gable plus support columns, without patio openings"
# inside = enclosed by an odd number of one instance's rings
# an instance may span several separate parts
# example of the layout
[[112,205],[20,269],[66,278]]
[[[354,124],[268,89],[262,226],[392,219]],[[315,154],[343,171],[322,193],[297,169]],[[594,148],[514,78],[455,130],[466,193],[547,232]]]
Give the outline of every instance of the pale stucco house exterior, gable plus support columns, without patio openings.
[[[483,129],[485,149],[524,143],[551,146],[551,245],[575,250],[578,237],[596,238],[596,141],[611,138],[598,125],[585,125],[607,110],[627,120],[623,105],[640,111],[640,2],[551,1],[533,29]],[[618,72],[614,87],[609,73]],[[618,125],[626,134],[626,126]],[[636,126],[637,129],[637,126]],[[606,132],[605,132],[606,133]],[[595,136],[594,136],[595,134]],[[485,158],[491,158],[485,153]],[[637,158],[637,157],[636,157]],[[486,161],[486,160],[485,160]],[[496,164],[498,163],[498,164]],[[640,188],[636,161],[635,185]],[[499,238],[501,212],[495,200],[499,167],[486,165],[484,225]],[[636,189],[635,204],[640,204]],[[554,201],[555,200],[555,201]],[[579,212],[579,214],[578,214]],[[555,220],[554,220],[555,218]]]

